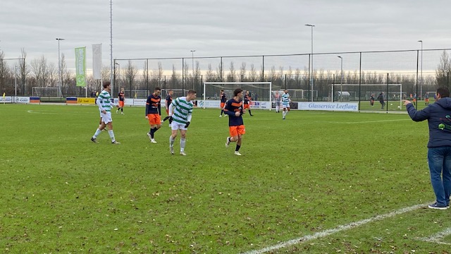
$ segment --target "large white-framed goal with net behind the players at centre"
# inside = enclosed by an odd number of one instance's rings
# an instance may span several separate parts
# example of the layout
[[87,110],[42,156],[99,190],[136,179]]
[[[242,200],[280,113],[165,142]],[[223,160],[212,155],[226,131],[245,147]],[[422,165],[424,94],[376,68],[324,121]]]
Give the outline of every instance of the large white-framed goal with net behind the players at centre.
[[[271,82],[204,82],[204,102],[216,101],[219,105],[221,89],[226,93],[227,99],[230,99],[237,88],[244,92],[249,91],[252,98],[251,108],[271,110]],[[203,107],[206,107],[206,103]]]

